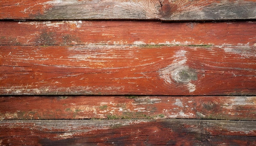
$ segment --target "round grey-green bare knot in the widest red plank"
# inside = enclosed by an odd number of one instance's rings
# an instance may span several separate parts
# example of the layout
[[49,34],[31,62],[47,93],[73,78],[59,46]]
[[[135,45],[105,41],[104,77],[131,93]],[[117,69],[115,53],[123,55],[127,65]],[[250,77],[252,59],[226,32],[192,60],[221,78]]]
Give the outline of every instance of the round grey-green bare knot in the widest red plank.
[[181,66],[171,71],[171,78],[178,83],[188,83],[191,80],[198,80],[198,75],[195,69],[188,66]]

